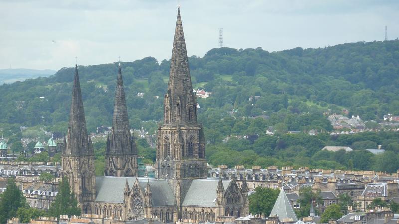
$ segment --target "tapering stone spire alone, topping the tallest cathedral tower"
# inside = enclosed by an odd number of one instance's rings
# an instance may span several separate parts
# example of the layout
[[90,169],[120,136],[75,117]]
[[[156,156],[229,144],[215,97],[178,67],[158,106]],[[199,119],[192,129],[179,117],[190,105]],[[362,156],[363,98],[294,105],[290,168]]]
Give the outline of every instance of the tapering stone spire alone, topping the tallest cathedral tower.
[[165,95],[164,105],[168,107],[168,111],[164,114],[165,124],[197,123],[197,103],[191,84],[180,8],[176,20],[168,91]]

